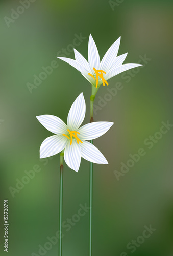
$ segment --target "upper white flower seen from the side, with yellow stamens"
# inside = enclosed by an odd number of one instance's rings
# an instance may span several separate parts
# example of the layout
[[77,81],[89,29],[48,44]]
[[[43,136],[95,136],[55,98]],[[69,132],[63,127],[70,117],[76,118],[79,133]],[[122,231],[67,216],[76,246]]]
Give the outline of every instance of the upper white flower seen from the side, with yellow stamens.
[[122,54],[117,57],[120,45],[120,37],[114,42],[114,44],[109,48],[100,61],[100,56],[95,45],[95,42],[90,34],[88,43],[88,62],[87,60],[76,50],[75,59],[57,57],[69,63],[72,67],[76,68],[81,72],[81,74],[95,87],[100,87],[101,84],[108,85],[108,79],[113,76],[122,73],[123,71],[142,66],[141,64],[123,64],[125,61],[127,53]]

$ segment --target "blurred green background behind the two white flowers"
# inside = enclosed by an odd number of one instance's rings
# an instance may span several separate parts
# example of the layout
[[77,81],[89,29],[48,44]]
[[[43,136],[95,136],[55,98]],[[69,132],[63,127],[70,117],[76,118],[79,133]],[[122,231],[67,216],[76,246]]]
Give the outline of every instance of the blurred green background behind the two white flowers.
[[[9,202],[8,255],[58,255],[58,243],[47,244],[47,237],[58,231],[60,156],[40,161],[39,147],[52,134],[36,116],[51,114],[66,121],[72,102],[83,92],[84,123],[89,122],[91,86],[56,56],[66,51],[66,57],[74,58],[74,39],[81,34],[83,39],[75,40],[75,48],[87,58],[91,33],[101,58],[121,36],[119,55],[129,52],[125,63],[145,59],[143,68],[112,78],[109,87],[101,86],[96,95],[94,120],[114,125],[94,141],[109,165],[94,164],[93,256],[171,256],[173,128],[150,149],[144,140],[157,137],[162,122],[173,124],[172,1],[32,0],[28,6],[25,2],[24,11],[21,2],[1,0],[0,4],[1,255],[5,255],[4,199]],[[52,61],[58,67],[29,90],[34,76]],[[106,95],[117,82],[123,88],[115,96]],[[118,181],[115,170],[120,172],[121,163],[126,164],[129,154],[141,147],[145,155]],[[35,165],[40,172],[12,193],[17,181]],[[86,212],[80,220],[76,216],[81,204],[89,204],[88,185],[87,161],[82,159],[78,173],[65,164],[63,219],[77,221],[63,228],[63,256],[88,255],[89,215]],[[156,230],[143,241],[144,226],[150,225]],[[128,249],[136,239],[137,245]],[[39,252],[39,246],[47,249]]]

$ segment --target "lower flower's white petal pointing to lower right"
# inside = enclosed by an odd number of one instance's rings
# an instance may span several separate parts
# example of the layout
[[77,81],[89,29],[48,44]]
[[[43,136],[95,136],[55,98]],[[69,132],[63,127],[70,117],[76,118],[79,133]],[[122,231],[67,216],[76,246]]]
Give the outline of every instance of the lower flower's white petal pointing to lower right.
[[92,145],[90,142],[82,140],[83,143],[80,143],[81,155],[84,159],[92,163],[102,163],[108,164],[108,161],[104,155]]

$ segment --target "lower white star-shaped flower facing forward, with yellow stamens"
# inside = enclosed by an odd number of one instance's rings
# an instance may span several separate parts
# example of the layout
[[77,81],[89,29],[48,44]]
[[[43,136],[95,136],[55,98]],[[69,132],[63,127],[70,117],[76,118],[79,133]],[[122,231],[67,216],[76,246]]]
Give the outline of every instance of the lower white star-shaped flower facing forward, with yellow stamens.
[[50,157],[64,150],[66,164],[76,172],[81,157],[89,162],[108,164],[103,154],[86,140],[96,139],[105,134],[112,122],[94,122],[80,127],[85,117],[86,105],[83,93],[72,104],[67,117],[67,125],[56,116],[37,116],[38,121],[55,135],[46,138],[40,146],[40,158]]

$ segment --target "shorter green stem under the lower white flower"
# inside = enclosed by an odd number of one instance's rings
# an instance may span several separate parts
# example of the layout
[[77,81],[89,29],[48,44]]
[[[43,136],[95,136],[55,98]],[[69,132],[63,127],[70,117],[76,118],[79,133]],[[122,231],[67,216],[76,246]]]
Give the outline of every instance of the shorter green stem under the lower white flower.
[[60,154],[60,199],[59,199],[59,256],[62,256],[62,203],[63,203],[63,157],[64,152]]

